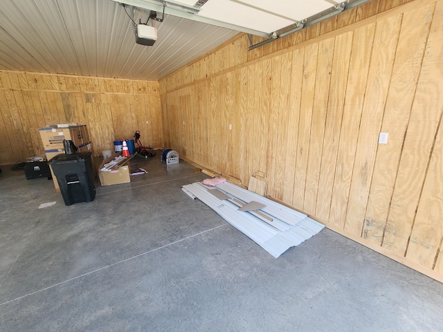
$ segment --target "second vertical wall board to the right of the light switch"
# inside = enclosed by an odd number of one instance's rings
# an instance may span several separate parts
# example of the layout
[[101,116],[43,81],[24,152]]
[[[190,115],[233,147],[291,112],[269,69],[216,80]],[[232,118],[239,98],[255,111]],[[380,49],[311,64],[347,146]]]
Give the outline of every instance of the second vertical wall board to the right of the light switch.
[[[415,214],[422,195],[429,156],[442,112],[441,23],[443,18],[440,8],[441,2],[435,10],[426,45],[383,237],[383,247],[399,255],[405,255],[411,231],[415,228]],[[439,25],[440,27],[437,28]],[[419,239],[416,237],[411,238],[411,243],[415,243],[413,244],[415,248],[423,245],[423,243],[416,243],[417,241]],[[413,255],[410,250],[408,252],[408,255]]]

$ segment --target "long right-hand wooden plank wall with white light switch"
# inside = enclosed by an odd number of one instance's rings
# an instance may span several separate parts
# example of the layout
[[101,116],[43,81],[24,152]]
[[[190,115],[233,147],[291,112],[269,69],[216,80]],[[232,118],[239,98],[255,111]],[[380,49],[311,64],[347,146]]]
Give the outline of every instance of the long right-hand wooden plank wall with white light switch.
[[241,35],[160,82],[165,145],[443,281],[442,25],[443,0],[374,0]]

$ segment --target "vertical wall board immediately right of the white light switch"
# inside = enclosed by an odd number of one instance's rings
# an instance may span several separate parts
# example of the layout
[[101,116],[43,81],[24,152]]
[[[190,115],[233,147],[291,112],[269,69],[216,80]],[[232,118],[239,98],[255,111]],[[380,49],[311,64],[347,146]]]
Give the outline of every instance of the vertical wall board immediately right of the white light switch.
[[[431,6],[431,7],[430,7]],[[401,146],[410,118],[420,65],[431,26],[434,4],[404,15],[395,55],[386,111],[381,132],[389,133],[388,144],[379,145],[363,226],[363,237],[379,246],[383,241],[390,199],[399,166]],[[421,21],[416,26],[414,22]],[[398,98],[402,95],[402,98]]]

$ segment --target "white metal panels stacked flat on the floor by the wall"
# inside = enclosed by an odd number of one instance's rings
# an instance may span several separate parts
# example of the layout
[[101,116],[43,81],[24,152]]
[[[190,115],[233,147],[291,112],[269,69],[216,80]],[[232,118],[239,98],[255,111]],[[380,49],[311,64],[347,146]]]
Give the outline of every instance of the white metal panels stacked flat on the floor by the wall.
[[[275,258],[289,248],[298,246],[311,238],[325,227],[306,214],[287,208],[232,183],[225,182],[215,187],[209,187],[197,182],[184,185],[183,188]],[[248,203],[260,208],[244,211],[242,205]]]

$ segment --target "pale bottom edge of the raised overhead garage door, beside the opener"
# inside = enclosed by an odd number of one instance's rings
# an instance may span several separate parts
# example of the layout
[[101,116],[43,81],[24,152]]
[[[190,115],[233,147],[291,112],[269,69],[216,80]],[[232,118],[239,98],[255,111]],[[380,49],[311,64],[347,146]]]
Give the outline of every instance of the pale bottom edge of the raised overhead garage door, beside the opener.
[[197,15],[201,8],[191,6],[181,6],[175,1],[162,1],[162,0],[112,0],[118,3],[124,3],[128,6],[134,6],[144,10],[154,10],[156,12],[162,12],[165,10],[165,14],[181,17],[183,19],[191,19],[201,23],[211,24],[213,26],[219,26],[230,30],[236,30],[242,33],[248,33],[255,36],[269,38],[269,33],[263,33],[262,31],[245,28],[244,26],[237,26],[235,24],[228,24],[226,22],[217,21],[216,19],[209,19],[208,17],[202,17]]

